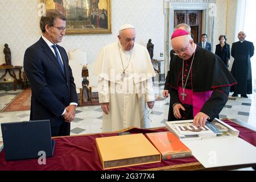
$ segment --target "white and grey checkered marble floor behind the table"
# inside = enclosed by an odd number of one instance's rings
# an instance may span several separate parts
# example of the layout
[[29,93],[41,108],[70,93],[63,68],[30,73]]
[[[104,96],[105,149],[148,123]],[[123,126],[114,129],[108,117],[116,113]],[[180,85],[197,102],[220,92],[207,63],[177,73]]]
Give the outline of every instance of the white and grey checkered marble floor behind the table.
[[[164,82],[155,83],[155,92],[162,97]],[[1,91],[0,90],[0,110],[3,109],[21,90]],[[231,97],[220,113],[220,118],[236,118],[251,126],[256,127],[256,88],[254,93],[248,95],[249,98]],[[150,127],[164,126],[167,121],[170,98],[163,101],[156,101],[153,111],[149,113],[151,120]],[[29,120],[30,111],[16,111],[0,113],[0,123]],[[77,107],[75,121],[71,123],[71,135],[100,133],[102,127],[102,111],[100,106]],[[0,130],[0,141],[2,133]]]

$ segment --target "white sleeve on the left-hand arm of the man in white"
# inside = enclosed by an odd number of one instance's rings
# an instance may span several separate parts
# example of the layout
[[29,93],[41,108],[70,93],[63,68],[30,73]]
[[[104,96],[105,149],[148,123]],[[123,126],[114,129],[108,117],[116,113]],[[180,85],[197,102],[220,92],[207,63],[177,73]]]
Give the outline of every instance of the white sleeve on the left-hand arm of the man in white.
[[109,102],[109,81],[98,79],[98,101],[100,103]]

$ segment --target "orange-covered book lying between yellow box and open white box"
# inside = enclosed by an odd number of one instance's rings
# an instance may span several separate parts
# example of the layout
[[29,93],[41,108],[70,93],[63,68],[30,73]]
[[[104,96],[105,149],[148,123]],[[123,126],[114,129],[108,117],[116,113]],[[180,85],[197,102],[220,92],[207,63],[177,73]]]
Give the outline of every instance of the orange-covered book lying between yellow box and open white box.
[[191,150],[170,131],[148,133],[146,135],[162,154],[163,160],[192,156]]

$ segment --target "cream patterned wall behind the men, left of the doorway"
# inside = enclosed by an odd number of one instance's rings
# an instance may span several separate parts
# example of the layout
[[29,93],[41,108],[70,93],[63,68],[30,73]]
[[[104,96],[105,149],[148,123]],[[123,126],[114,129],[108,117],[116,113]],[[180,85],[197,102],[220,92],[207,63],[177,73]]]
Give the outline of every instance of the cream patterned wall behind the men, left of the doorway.
[[[40,38],[39,0],[0,1],[0,64],[5,63],[4,44],[9,44],[13,65],[23,65],[24,51]],[[80,48],[92,63],[100,49],[117,41],[118,28],[131,23],[137,28],[136,42],[146,46],[152,39],[154,58],[164,52],[163,1],[112,0],[112,34],[66,35],[60,44],[66,51]],[[1,73],[0,73],[1,74]]]

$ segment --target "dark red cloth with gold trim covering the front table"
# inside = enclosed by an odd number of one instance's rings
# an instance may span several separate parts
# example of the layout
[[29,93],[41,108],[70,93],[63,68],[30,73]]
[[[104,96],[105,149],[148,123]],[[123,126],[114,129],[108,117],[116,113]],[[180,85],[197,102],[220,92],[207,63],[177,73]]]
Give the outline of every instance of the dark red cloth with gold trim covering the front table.
[[[239,137],[256,146],[256,133],[254,130],[247,129],[230,119],[225,119],[225,123],[240,131]],[[100,134],[75,135],[68,137],[55,137],[55,151],[52,158],[46,158],[46,164],[40,165],[38,159],[26,160],[5,160],[5,150],[0,153],[0,170],[89,170],[100,171],[102,169],[100,156],[97,152],[95,139],[99,137],[110,137],[118,135],[119,132],[129,131],[135,133],[154,133],[160,131],[168,131],[165,127],[154,129],[137,129],[134,127],[113,132]],[[255,164],[246,164],[240,166],[231,166],[228,169],[255,167]],[[180,158],[162,160],[159,163],[143,164],[130,167],[115,168],[110,170],[134,171],[134,170],[195,170],[205,169],[196,158]],[[224,167],[216,169],[227,169]]]

